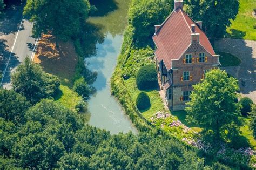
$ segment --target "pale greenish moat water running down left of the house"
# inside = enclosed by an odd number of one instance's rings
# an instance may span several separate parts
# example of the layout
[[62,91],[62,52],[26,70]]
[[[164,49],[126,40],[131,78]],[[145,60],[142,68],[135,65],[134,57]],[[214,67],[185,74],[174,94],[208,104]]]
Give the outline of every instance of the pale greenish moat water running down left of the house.
[[[89,124],[109,130],[112,134],[132,131],[137,133],[131,120],[125,115],[122,107],[111,96],[110,78],[117,63],[117,57],[123,41],[123,32],[127,24],[127,10],[130,0],[99,0],[98,17],[90,17],[89,22],[96,24],[104,35],[104,42],[97,44],[97,55],[86,58],[87,66],[92,71],[98,72],[98,77],[93,84],[97,92],[89,100]],[[103,4],[100,4],[103,2]],[[110,3],[111,2],[111,3]],[[105,3],[105,4],[104,4]],[[104,8],[111,4],[108,8]]]

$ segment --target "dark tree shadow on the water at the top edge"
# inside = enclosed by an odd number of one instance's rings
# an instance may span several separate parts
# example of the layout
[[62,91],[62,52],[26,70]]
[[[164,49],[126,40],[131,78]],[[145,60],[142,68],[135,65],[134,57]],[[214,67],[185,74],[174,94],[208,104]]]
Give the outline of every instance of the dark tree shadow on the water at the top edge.
[[118,9],[118,3],[115,0],[90,0],[90,3],[97,8],[97,11],[91,13],[91,16],[105,16]]

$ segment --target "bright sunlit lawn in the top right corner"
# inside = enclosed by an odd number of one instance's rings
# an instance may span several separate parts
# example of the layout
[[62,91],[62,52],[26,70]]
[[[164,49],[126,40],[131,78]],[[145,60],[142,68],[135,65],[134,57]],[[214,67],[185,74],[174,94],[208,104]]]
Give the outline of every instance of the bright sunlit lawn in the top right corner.
[[256,8],[255,0],[240,0],[237,18],[231,21],[231,26],[227,28],[227,37],[236,39],[256,40],[256,18],[253,17],[253,9]]

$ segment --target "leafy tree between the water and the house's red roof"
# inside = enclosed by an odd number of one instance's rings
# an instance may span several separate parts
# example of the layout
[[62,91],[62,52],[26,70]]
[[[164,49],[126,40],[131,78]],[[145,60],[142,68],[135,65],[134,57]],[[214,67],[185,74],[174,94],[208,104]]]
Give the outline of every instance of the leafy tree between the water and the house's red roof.
[[154,35],[154,25],[164,22],[173,9],[173,1],[133,0],[131,4],[129,23],[134,29],[134,41],[138,46],[152,45],[149,39]]

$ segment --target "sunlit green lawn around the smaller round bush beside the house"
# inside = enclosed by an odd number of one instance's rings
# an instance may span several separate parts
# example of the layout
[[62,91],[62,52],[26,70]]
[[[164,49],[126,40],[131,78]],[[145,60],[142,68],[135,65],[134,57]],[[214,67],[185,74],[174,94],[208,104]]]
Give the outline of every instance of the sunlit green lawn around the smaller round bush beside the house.
[[[125,80],[125,85],[127,87],[127,90],[129,90],[129,93],[131,94],[131,98],[133,100],[133,103],[136,103],[136,99],[139,95],[139,93],[141,92],[136,85],[136,79],[135,78],[130,78],[128,80]],[[158,93],[158,91],[156,89],[152,89],[152,90],[146,90],[145,91],[147,93],[147,95],[149,95],[150,97],[150,103],[151,103],[151,107],[149,108],[149,110],[143,111],[142,115],[146,118],[146,119],[150,119],[154,113],[158,112],[158,111],[166,111],[164,104],[163,104],[163,100],[160,98],[160,95]],[[168,112],[168,111],[167,111]]]

